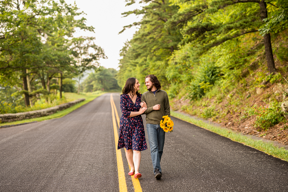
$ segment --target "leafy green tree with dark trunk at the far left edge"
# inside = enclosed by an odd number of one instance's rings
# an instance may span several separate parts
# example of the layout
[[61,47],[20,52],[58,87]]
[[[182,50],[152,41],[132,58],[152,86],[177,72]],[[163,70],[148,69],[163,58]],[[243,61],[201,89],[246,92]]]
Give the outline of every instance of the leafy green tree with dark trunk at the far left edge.
[[[29,6],[25,3],[23,7]],[[1,81],[9,80],[14,71],[21,71],[25,105],[30,106],[26,69],[39,67],[35,63],[40,63],[37,55],[41,51],[41,41],[33,26],[37,12],[22,11],[15,1],[1,1],[0,7]]]

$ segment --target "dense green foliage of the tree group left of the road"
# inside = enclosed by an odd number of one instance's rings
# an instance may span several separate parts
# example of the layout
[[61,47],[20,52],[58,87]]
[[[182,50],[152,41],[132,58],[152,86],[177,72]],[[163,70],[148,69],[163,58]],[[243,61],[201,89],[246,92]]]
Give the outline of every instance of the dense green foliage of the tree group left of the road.
[[85,18],[75,19],[82,14],[64,0],[0,1],[1,100],[29,107],[41,98],[52,101],[57,90],[60,98],[76,91],[71,78],[106,58],[94,37],[73,37],[76,30],[94,30]]

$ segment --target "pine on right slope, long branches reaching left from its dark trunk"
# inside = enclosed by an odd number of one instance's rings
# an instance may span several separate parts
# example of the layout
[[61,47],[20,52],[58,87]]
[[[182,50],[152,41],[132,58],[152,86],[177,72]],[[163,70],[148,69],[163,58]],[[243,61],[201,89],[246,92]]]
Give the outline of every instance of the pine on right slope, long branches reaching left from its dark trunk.
[[[193,42],[199,54],[223,42],[247,33],[255,33],[268,18],[264,0],[172,1],[180,7],[167,27],[178,26],[184,36],[182,44]],[[268,2],[269,6],[274,4]],[[269,73],[276,72],[270,33],[264,34]]]

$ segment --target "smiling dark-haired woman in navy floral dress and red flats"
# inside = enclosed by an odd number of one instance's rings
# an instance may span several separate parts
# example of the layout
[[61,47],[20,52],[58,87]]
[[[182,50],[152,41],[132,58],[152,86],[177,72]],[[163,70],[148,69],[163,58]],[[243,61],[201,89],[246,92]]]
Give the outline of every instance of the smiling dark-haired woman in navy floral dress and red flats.
[[140,84],[134,78],[128,78],[120,96],[120,108],[122,116],[120,118],[118,149],[126,148],[126,158],[131,167],[128,175],[140,178],[139,166],[141,161],[141,151],[147,149],[145,132],[141,114],[147,108],[141,108],[141,96],[138,93]]

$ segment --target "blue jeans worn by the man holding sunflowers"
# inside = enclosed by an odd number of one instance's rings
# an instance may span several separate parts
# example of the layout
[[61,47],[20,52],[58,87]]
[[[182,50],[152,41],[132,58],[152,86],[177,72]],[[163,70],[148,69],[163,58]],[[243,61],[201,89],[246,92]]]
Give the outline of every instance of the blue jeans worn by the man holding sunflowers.
[[154,173],[155,169],[159,169],[161,172],[160,160],[163,153],[165,131],[161,129],[160,125],[146,124],[146,128]]

